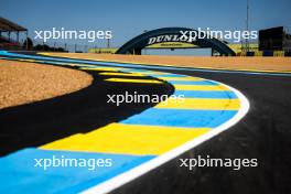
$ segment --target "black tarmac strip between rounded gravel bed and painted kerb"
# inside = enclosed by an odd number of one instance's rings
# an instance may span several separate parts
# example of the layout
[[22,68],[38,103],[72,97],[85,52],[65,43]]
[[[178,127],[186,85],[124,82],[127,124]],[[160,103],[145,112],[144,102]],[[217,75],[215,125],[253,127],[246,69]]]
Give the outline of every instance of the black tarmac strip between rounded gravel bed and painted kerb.
[[[93,84],[78,91],[33,104],[0,110],[0,155],[28,147],[39,147],[74,133],[88,132],[110,122],[123,120],[155,104],[108,104],[107,95],[171,95],[164,84],[105,82],[108,76],[94,76]],[[133,78],[133,77],[129,77]]]

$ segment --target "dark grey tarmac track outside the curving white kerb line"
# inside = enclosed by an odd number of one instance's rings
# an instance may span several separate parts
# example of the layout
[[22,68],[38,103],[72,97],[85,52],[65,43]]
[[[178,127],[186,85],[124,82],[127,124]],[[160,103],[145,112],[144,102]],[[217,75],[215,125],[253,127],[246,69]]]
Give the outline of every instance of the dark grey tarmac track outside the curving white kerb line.
[[[291,192],[291,77],[190,73],[238,88],[250,110],[236,126],[112,193],[287,194]],[[179,168],[179,159],[258,159],[257,168]]]

